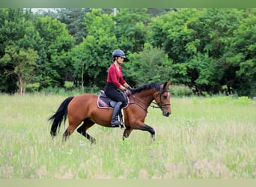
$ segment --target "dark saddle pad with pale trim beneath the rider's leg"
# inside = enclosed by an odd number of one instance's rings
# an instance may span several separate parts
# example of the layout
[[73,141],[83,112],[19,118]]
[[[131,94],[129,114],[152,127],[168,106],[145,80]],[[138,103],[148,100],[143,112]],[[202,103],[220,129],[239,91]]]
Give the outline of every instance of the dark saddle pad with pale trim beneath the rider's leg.
[[[123,108],[127,108],[129,103],[129,98],[127,96],[126,98],[127,98],[127,102]],[[98,99],[97,99],[97,106],[99,108],[114,108],[116,103],[117,102],[115,100],[110,99],[108,96],[106,96],[104,91],[100,91],[100,95],[98,96]]]

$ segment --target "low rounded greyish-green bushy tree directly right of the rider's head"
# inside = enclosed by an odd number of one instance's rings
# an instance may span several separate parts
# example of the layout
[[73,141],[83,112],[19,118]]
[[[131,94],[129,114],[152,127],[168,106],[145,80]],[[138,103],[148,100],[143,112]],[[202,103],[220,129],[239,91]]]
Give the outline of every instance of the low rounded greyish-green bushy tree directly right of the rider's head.
[[124,76],[130,85],[138,86],[148,82],[168,82],[173,73],[165,52],[145,43],[144,50],[129,57],[124,63]]

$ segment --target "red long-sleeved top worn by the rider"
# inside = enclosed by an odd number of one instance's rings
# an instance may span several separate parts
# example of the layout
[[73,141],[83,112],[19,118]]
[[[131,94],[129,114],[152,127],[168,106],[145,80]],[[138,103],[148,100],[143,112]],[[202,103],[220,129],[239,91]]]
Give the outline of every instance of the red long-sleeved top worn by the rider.
[[124,81],[124,78],[122,76],[122,67],[119,67],[119,70],[115,67],[115,64],[112,64],[109,67],[108,70],[108,77],[107,77],[107,82],[113,83],[117,88],[119,88],[121,85],[124,85],[126,83]]

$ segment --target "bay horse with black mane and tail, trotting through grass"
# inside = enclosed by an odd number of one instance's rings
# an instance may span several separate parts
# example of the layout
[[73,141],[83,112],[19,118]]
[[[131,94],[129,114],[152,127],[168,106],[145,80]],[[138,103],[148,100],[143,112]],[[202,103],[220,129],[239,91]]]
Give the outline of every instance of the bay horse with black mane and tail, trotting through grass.
[[[154,141],[155,131],[151,126],[144,123],[149,106],[160,108],[162,115],[168,117],[171,114],[170,91],[171,82],[150,83],[141,85],[132,90],[128,96],[128,106],[124,108],[124,129],[123,140],[128,138],[133,129],[150,132],[151,139]],[[77,132],[85,136],[91,143],[96,143],[95,138],[91,137],[86,131],[97,123],[100,126],[111,127],[112,108],[99,108],[97,105],[97,95],[85,93],[78,96],[70,96],[59,106],[58,110],[49,120],[52,120],[50,134],[52,138],[57,134],[61,123],[68,117],[69,126],[63,134],[63,139],[67,138],[77,129]],[[155,102],[153,102],[155,100]],[[155,105],[150,105],[151,102]],[[157,105],[157,106],[156,106]],[[80,124],[82,125],[80,126]]]

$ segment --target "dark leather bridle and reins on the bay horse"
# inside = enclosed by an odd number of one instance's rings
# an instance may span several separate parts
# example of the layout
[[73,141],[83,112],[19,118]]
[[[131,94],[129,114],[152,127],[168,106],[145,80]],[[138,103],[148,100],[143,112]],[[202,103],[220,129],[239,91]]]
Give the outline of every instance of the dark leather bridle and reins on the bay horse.
[[[131,95],[132,98],[133,98],[133,100],[134,100],[134,102],[130,102],[129,104],[138,105],[140,108],[144,109],[144,111],[146,111],[146,112],[147,112],[147,108],[148,108],[149,106],[152,107],[152,108],[160,108],[161,110],[163,110],[163,106],[165,106],[165,105],[171,105],[170,102],[168,102],[168,103],[162,103],[162,93],[165,93],[165,92],[170,93],[170,91],[169,91],[168,89],[165,89],[165,90],[162,90],[162,89],[161,89],[161,90],[158,91],[158,93],[157,93],[157,95],[156,95],[156,96],[160,96],[160,103],[157,103],[157,102],[153,102],[153,101],[152,101],[152,102],[150,102],[150,104],[153,103],[154,105],[148,105],[147,103],[142,102],[140,99],[135,98],[135,95]],[[142,106],[140,103],[143,104],[143,105],[146,105],[146,107]]]

